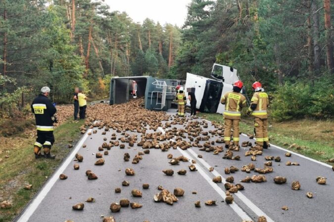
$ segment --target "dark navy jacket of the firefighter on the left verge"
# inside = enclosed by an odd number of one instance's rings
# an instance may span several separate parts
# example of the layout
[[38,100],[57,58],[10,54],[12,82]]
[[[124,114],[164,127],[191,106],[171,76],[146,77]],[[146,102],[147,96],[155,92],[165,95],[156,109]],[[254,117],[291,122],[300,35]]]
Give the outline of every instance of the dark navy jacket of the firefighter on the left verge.
[[43,94],[38,95],[31,104],[31,111],[35,114],[36,127],[39,131],[53,131],[51,117],[57,111],[51,101]]

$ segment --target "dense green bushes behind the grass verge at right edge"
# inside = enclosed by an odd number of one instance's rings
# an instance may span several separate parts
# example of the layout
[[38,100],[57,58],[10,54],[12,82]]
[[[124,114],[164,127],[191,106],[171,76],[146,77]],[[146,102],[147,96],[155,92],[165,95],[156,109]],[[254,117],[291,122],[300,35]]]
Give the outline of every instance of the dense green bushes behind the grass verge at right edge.
[[332,78],[313,83],[286,83],[274,94],[272,117],[278,121],[293,118],[334,117],[334,88]]

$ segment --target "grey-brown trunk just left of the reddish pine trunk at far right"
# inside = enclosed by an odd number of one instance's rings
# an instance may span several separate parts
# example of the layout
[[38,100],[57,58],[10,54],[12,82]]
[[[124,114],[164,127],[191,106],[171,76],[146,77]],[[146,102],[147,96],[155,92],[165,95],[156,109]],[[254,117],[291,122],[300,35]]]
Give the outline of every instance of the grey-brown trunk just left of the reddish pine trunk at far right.
[[314,72],[318,75],[320,72],[320,46],[319,46],[319,12],[316,0],[312,0],[311,11],[313,18],[313,51],[314,51]]

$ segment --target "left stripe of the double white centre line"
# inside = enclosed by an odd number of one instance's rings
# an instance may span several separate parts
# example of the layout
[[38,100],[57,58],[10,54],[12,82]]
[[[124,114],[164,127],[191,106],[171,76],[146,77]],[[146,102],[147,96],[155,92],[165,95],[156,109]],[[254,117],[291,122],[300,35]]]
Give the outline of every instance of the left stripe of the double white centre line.
[[[184,150],[182,150],[181,148],[177,148],[182,155],[184,155],[185,157],[187,157],[188,159],[192,159],[191,156]],[[216,192],[224,199],[226,198],[225,192],[216,184],[212,181],[212,179],[204,172],[204,170],[197,164],[193,164],[196,166],[196,169],[198,171],[198,173],[200,173],[200,175],[202,175],[202,177],[209,183],[209,185],[212,186],[212,188],[214,188],[214,190],[216,190]],[[232,204],[229,204],[229,206],[239,215],[239,217],[243,220],[243,221],[253,221],[247,214],[246,212],[244,212],[238,204],[236,204],[236,202],[233,202]]]

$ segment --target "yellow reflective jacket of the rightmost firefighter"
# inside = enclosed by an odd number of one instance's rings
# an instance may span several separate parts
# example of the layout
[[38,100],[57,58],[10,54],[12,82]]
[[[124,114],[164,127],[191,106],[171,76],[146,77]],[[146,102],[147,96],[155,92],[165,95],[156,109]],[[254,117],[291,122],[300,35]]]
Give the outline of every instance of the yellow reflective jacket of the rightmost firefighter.
[[258,117],[261,119],[268,118],[267,107],[269,106],[268,94],[265,92],[255,92],[252,99],[250,100],[250,107],[256,104],[255,110],[249,107],[248,110],[252,111],[252,116]]

